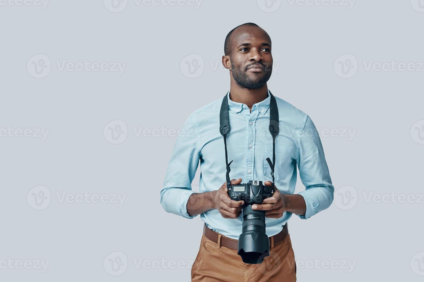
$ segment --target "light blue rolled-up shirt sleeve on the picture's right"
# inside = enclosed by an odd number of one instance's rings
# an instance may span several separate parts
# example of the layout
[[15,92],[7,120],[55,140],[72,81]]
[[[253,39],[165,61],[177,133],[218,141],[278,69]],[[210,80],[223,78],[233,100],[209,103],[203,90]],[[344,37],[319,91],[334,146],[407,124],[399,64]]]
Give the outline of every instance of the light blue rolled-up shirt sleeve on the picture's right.
[[308,219],[331,205],[334,186],[318,131],[309,116],[299,134],[298,144],[299,175],[306,187],[304,191],[298,193],[304,197],[306,203],[306,213],[299,217]]

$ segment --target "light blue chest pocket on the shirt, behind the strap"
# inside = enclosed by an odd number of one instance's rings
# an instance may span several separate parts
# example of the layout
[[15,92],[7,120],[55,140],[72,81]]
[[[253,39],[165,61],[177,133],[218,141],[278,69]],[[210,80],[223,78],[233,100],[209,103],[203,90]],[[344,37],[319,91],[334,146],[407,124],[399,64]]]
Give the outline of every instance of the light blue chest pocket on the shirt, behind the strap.
[[[276,181],[286,178],[287,173],[293,170],[294,153],[295,149],[292,147],[275,144],[274,176]],[[263,173],[272,181],[271,167],[266,158],[270,158],[272,162],[272,143],[266,143],[265,157],[263,160]]]

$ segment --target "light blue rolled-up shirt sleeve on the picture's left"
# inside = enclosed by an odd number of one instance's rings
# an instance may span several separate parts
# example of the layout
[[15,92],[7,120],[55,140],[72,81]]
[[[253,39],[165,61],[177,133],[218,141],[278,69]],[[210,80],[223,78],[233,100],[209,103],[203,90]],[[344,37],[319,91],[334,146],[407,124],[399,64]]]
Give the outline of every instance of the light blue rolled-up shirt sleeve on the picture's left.
[[191,114],[178,131],[163,189],[160,192],[160,203],[165,211],[188,219],[195,217],[187,213],[187,202],[190,195],[195,193],[192,191],[191,182],[199,164],[199,134],[194,116]]

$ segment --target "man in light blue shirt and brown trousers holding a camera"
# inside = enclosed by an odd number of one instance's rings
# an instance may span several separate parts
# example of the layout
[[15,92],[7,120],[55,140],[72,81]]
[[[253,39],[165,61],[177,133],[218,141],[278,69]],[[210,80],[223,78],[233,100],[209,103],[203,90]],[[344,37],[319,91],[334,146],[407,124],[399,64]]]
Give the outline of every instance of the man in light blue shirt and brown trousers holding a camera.
[[[227,135],[228,159],[233,160],[231,184],[263,181],[272,186],[273,140],[268,131],[271,95],[266,82],[271,77],[271,38],[254,23],[229,32],[224,45],[223,66],[229,69],[227,93],[231,132]],[[237,255],[242,231],[244,201],[232,200],[224,182],[226,159],[220,134],[219,113],[223,99],[193,112],[177,138],[164,186],[161,204],[165,211],[205,222],[201,246],[192,266],[192,281],[296,281],[296,263],[287,229],[291,214],[307,219],[329,207],[334,187],[321,140],[308,115],[275,97],[279,134],[275,139],[275,192],[261,204],[265,211],[270,253],[262,263],[243,263]],[[191,182],[200,160],[199,192]],[[297,170],[306,189],[293,194]],[[243,181],[243,182],[242,182]],[[223,184],[222,184],[223,183]]]

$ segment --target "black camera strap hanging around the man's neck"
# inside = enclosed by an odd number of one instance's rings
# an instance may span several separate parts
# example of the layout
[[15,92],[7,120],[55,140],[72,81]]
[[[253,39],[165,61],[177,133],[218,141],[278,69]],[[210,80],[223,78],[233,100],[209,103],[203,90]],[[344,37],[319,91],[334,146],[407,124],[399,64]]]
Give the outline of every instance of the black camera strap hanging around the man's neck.
[[[271,176],[272,176],[272,193],[275,190],[274,185],[274,167],[275,167],[275,137],[279,133],[279,116],[278,116],[278,107],[277,107],[277,101],[275,97],[272,95],[271,91],[269,91],[271,96],[270,101],[270,115],[269,115],[269,132],[272,135],[272,162],[270,158],[266,158],[269,166],[271,167]],[[225,164],[227,168],[226,172],[226,181],[227,181],[227,189],[230,188],[230,164],[233,162],[228,162],[228,153],[227,153],[227,134],[230,132],[230,120],[229,120],[229,108],[228,108],[228,96],[229,94],[225,95],[222,99],[221,104],[221,110],[219,114],[219,132],[224,137],[224,148],[225,148]]]

